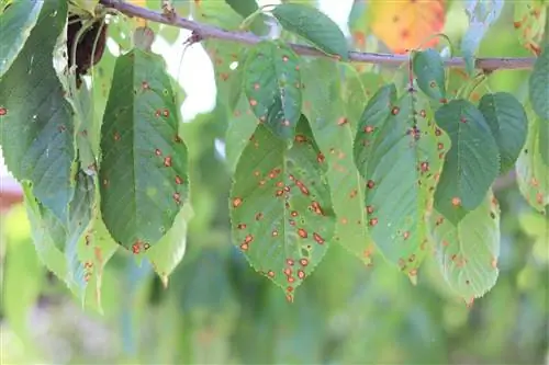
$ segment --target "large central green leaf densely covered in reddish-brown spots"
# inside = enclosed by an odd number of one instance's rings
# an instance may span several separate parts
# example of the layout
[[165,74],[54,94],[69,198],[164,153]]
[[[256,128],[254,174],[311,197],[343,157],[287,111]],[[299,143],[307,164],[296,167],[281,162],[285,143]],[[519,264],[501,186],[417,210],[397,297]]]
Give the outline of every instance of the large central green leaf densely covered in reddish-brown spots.
[[305,117],[291,148],[259,125],[238,160],[231,190],[234,243],[289,300],[334,236],[326,167],[318,153]]

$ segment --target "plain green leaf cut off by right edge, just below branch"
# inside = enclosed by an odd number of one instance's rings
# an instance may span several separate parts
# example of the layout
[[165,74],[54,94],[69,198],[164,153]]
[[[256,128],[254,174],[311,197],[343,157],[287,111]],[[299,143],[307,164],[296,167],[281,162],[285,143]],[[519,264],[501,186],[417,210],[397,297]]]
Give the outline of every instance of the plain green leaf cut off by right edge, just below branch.
[[534,111],[540,118],[549,121],[549,46],[547,45],[534,64],[528,87]]

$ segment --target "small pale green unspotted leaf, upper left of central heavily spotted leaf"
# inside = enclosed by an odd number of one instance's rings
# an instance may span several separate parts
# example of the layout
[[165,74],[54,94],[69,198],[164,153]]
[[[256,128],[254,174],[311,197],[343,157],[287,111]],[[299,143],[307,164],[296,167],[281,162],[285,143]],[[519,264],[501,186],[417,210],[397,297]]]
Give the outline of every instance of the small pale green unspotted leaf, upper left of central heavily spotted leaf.
[[235,171],[236,163],[248,144],[249,137],[256,130],[257,125],[258,119],[249,107],[248,99],[243,93],[236,104],[233,116],[229,118],[225,135],[225,150],[231,171]]

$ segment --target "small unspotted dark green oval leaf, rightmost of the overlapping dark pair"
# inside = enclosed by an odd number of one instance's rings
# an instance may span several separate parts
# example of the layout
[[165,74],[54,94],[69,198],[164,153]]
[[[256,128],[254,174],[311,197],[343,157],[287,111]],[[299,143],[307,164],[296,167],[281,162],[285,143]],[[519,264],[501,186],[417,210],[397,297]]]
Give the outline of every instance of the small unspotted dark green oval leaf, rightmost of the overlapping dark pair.
[[528,118],[523,105],[507,92],[485,94],[479,110],[486,119],[500,150],[500,173],[515,164],[528,133]]

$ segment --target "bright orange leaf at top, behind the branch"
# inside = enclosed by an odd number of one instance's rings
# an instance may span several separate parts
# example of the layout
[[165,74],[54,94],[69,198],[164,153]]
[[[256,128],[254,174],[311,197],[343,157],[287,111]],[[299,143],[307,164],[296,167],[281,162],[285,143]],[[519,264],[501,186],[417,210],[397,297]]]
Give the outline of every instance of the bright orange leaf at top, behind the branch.
[[[371,1],[371,30],[394,53],[403,54],[421,45],[434,47],[445,25],[444,0]],[[427,42],[426,42],[427,41]]]

